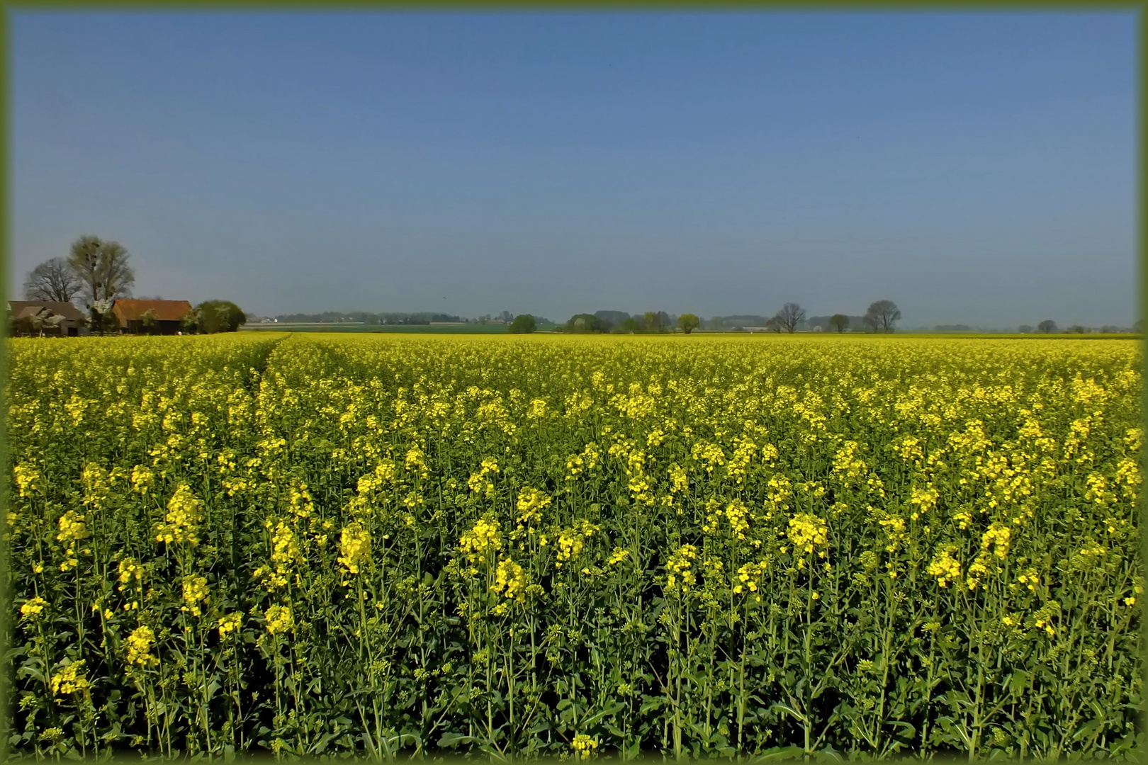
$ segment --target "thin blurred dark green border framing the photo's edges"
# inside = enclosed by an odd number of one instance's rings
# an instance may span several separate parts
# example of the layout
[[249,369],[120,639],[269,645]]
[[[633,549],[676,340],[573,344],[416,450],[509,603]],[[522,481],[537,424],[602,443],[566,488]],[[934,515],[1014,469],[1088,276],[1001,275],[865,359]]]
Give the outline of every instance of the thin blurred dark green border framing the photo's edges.
[[[2,106],[0,106],[0,146],[3,147],[3,153],[0,155],[0,232],[2,232],[2,239],[0,239],[0,292],[7,296],[10,294],[9,290],[9,279],[11,273],[9,270],[9,264],[11,263],[9,253],[11,251],[11,174],[10,174],[10,163],[11,163],[11,134],[10,134],[10,72],[11,72],[11,60],[10,60],[10,36],[11,36],[11,14],[14,11],[21,10],[45,10],[45,11],[149,11],[149,10],[177,10],[177,11],[251,11],[251,10],[264,10],[264,11],[311,11],[311,13],[346,13],[346,11],[364,11],[364,10],[379,10],[379,11],[411,11],[411,10],[435,10],[435,11],[459,11],[459,10],[488,10],[488,11],[545,11],[545,10],[557,10],[557,11],[697,11],[697,13],[728,13],[728,11],[746,11],[746,10],[763,10],[763,11],[980,11],[980,13],[992,13],[992,11],[1081,11],[1081,13],[1096,13],[1103,10],[1134,10],[1138,13],[1137,26],[1137,46],[1138,46],[1138,75],[1139,75],[1139,103],[1138,103],[1138,131],[1139,141],[1137,145],[1137,170],[1138,170],[1138,182],[1137,182],[1137,202],[1141,214],[1138,220],[1137,226],[1137,253],[1138,253],[1138,266],[1139,266],[1139,281],[1140,281],[1140,302],[1138,305],[1139,317],[1148,323],[1148,223],[1146,223],[1146,216],[1143,214],[1145,204],[1148,203],[1148,164],[1146,164],[1146,158],[1148,158],[1148,99],[1146,99],[1146,83],[1148,83],[1148,50],[1146,50],[1146,42],[1148,42],[1148,1],[1126,1],[1126,0],[1099,0],[1089,2],[1087,0],[1076,0],[1076,1],[1050,1],[1050,2],[1037,2],[1031,0],[965,0],[964,2],[955,2],[953,0],[885,0],[879,3],[866,3],[862,0],[855,2],[850,2],[847,0],[808,0],[807,2],[792,2],[783,0],[722,0],[720,3],[707,5],[705,2],[698,2],[697,0],[414,0],[413,2],[400,2],[389,0],[339,0],[331,5],[324,5],[321,1],[317,2],[315,0],[118,0],[113,2],[99,2],[96,0],[60,0],[60,1],[45,1],[45,2],[6,2],[2,6],[2,13],[0,13],[0,50],[3,52],[2,58],[0,58],[0,100],[2,100]],[[7,335],[7,322],[5,322],[3,328],[0,329],[0,338]],[[1148,380],[1148,333],[1145,333],[1141,338],[1141,374],[1142,378]],[[8,350],[7,343],[3,344],[3,349],[0,350],[0,381],[6,382],[8,378]],[[7,401],[3,396],[3,388],[0,387],[0,465],[8,465],[7,454]],[[1148,384],[1143,385],[1142,400],[1141,400],[1141,415],[1145,417],[1145,428],[1148,430]],[[1141,466],[1148,465],[1148,443],[1145,444],[1141,451]],[[8,508],[8,485],[9,478],[7,470],[0,476],[0,528],[3,528],[3,518],[7,517]],[[1148,563],[1148,495],[1141,492],[1140,498],[1140,560],[1141,564]],[[8,622],[11,617],[11,610],[8,608],[9,602],[8,593],[8,549],[7,545],[0,542],[0,657],[7,654],[7,645],[3,637],[7,635]],[[1140,712],[1140,728],[1141,733],[1148,732],[1148,598],[1141,599],[1141,657],[1143,659],[1145,677],[1143,685],[1141,686],[1143,698],[1141,701],[1142,709]],[[0,720],[8,719],[8,688],[7,688],[7,674],[0,672]],[[1148,760],[1148,751],[1141,752],[1141,757]],[[157,758],[156,758],[157,759]],[[305,759],[305,758],[301,758]],[[823,758],[815,758],[821,760]],[[824,758],[827,762],[829,758]],[[899,758],[899,760],[914,759],[913,755],[905,755]],[[104,759],[102,762],[125,762],[125,763],[139,763],[141,762],[138,757],[116,757],[110,759]],[[0,728],[0,763],[9,762],[8,754],[8,735],[7,731]],[[32,758],[13,759],[11,762],[36,762]],[[149,760],[145,760],[149,762]],[[277,762],[273,757],[269,756],[243,756],[238,757],[233,762],[236,763],[273,763]],[[328,759],[327,762],[338,762]],[[359,760],[351,760],[359,762]],[[461,757],[451,756],[430,756],[426,757],[419,762],[424,763],[450,763],[450,762],[464,762]],[[476,757],[466,758],[465,762],[475,763],[482,762]],[[645,756],[637,760],[634,760],[636,765],[647,765],[653,763],[666,763],[670,762],[669,757],[665,756]],[[752,763],[766,763],[766,762],[783,762],[781,758],[758,758],[754,760],[748,760]],[[796,762],[796,759],[789,759],[786,762]],[[932,762],[949,762],[944,758],[932,758]],[[960,758],[952,758],[952,762],[967,762]]]

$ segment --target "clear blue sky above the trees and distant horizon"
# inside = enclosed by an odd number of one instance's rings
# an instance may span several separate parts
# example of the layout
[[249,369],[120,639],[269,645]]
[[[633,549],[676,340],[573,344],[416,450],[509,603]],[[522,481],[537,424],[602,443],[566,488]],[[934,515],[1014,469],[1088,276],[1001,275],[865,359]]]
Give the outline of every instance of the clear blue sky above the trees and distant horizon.
[[10,290],[94,234],[137,295],[261,314],[1131,325],[1135,29],[18,13]]

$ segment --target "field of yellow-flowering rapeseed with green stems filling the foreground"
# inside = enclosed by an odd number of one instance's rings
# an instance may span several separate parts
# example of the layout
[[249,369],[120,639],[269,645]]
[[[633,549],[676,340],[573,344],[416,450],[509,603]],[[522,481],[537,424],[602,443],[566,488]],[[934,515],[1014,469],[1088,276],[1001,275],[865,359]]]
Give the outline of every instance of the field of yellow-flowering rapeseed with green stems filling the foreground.
[[9,341],[9,748],[1142,750],[1128,341]]

